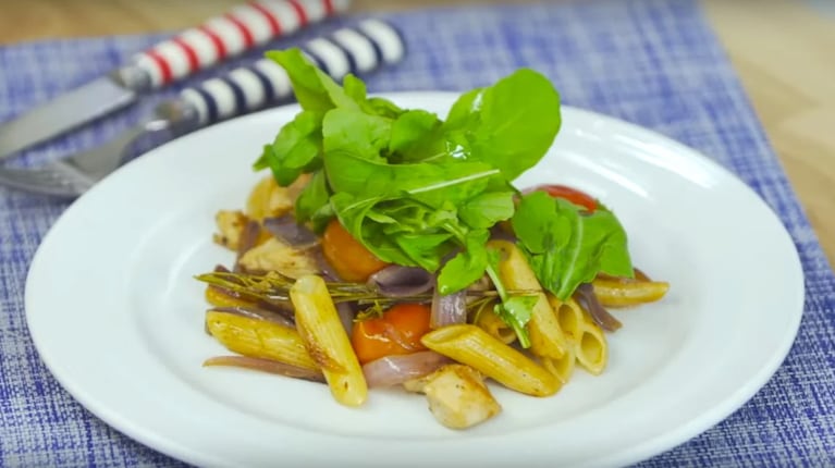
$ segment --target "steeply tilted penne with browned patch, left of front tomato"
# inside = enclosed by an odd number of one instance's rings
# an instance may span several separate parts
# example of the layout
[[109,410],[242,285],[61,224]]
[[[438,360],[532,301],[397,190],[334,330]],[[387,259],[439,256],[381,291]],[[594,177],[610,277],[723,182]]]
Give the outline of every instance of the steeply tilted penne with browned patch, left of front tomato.
[[365,403],[368,384],[324,280],[312,274],[299,278],[290,298],[302,341],[321,367],[333,397],[347,406]]

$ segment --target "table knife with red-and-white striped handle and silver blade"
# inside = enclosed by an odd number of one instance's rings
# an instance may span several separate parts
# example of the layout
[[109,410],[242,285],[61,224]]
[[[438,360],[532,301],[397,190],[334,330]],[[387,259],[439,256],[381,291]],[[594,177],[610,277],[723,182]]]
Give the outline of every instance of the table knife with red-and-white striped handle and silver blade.
[[347,10],[351,0],[261,0],[238,5],[136,54],[108,75],[0,124],[0,160],[125,108],[228,58]]

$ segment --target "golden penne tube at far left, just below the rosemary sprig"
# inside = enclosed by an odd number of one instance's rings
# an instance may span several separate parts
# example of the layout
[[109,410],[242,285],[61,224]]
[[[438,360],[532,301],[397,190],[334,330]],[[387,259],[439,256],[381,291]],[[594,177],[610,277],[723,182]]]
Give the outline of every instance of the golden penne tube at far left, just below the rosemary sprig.
[[291,328],[219,311],[206,313],[206,328],[229,350],[305,369],[319,369],[307,353],[302,336]]

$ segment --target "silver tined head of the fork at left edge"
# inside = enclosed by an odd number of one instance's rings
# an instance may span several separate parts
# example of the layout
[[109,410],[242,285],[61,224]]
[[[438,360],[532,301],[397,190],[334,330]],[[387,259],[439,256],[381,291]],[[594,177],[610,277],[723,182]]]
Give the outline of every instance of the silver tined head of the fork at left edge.
[[96,180],[60,161],[38,169],[0,167],[0,184],[32,193],[77,197],[95,183]]

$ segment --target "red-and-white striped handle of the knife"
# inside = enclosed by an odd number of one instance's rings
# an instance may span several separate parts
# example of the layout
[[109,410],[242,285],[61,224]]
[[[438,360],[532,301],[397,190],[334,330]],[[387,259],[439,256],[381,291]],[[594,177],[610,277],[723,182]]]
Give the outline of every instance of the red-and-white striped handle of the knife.
[[134,58],[147,75],[145,86],[158,88],[270,39],[340,14],[351,0],[259,0],[234,8],[187,29]]

